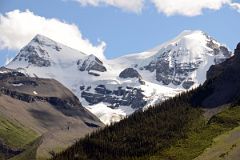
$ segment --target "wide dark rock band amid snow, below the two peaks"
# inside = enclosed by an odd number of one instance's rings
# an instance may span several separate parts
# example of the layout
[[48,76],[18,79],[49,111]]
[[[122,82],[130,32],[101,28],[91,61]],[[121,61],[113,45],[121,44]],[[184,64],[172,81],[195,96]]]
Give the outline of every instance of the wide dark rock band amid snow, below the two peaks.
[[[82,87],[82,89],[84,89]],[[100,102],[109,104],[109,107],[116,108],[121,106],[131,106],[134,109],[141,109],[146,105],[143,91],[132,87],[118,87],[117,90],[109,90],[104,85],[98,85],[95,88],[95,93],[88,91],[82,92],[84,98],[89,104],[94,105]]]

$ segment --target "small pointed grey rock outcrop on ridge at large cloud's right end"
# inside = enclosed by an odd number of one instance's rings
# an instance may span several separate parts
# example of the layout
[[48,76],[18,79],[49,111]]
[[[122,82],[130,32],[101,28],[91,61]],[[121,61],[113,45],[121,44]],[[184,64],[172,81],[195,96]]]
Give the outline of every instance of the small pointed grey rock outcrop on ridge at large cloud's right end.
[[[94,55],[90,55],[86,59],[78,60],[77,65],[80,71],[91,71],[91,70],[99,71],[99,72],[107,71],[102,61],[100,61]],[[95,75],[95,76],[98,76],[98,75]]]

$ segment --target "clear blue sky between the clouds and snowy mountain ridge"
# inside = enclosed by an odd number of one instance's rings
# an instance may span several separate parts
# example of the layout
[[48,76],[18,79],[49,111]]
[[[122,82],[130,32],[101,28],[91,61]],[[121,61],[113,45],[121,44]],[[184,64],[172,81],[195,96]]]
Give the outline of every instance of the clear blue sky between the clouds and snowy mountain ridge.
[[[1,15],[16,9],[20,12],[28,9],[47,19],[74,23],[91,44],[106,43],[104,54],[107,58],[151,49],[189,29],[203,30],[230,49],[240,41],[240,13],[229,5],[216,10],[203,9],[203,13],[197,16],[177,13],[169,16],[158,12],[149,1],[145,2],[141,12],[135,13],[108,4],[83,6],[73,0],[0,0]],[[0,64],[3,65],[6,57],[12,57],[18,51],[16,47],[2,47]]]

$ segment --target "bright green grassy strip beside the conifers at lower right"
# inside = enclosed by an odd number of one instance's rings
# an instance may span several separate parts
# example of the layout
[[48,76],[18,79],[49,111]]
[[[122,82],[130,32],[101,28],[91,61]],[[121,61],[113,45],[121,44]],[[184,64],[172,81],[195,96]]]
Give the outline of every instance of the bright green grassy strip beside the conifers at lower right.
[[[196,119],[187,131],[187,137],[176,141],[176,144],[160,152],[152,159],[168,157],[176,160],[191,160],[199,156],[206,148],[211,147],[218,135],[227,133],[240,124],[240,107],[230,107],[213,116],[208,122],[204,117]],[[240,140],[240,139],[239,139]]]

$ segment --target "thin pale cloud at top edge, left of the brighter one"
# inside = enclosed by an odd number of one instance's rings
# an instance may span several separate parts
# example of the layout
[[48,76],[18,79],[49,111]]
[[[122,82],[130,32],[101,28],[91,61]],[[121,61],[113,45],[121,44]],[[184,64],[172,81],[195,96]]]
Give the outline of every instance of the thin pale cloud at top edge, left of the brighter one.
[[75,0],[81,5],[101,6],[109,5],[121,8],[125,11],[140,13],[144,6],[144,0]]

